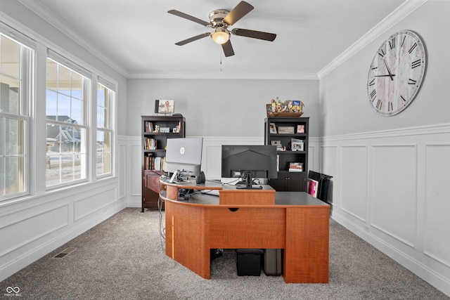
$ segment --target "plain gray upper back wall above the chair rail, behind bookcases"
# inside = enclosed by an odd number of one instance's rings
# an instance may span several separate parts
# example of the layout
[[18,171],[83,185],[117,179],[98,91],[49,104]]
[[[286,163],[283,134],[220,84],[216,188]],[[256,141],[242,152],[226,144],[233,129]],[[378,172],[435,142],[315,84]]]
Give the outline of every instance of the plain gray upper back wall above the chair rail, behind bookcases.
[[139,135],[141,115],[155,115],[155,99],[173,99],[186,136],[264,138],[265,105],[276,97],[302,100],[310,135],[319,133],[319,79],[129,79],[128,90],[128,136]]

